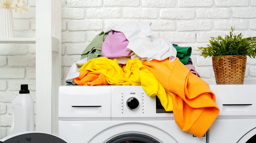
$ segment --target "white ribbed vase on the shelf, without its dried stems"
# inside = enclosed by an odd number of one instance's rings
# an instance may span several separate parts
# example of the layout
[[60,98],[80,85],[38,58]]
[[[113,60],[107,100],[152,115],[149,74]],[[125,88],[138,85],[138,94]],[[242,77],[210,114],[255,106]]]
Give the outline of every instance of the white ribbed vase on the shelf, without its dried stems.
[[14,38],[11,9],[0,8],[0,38]]

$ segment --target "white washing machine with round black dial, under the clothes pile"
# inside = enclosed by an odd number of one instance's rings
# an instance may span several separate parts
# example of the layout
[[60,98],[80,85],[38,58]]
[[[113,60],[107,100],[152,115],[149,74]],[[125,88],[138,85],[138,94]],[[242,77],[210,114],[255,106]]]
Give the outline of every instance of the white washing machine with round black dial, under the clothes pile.
[[67,143],[205,143],[141,86],[60,86],[59,137]]

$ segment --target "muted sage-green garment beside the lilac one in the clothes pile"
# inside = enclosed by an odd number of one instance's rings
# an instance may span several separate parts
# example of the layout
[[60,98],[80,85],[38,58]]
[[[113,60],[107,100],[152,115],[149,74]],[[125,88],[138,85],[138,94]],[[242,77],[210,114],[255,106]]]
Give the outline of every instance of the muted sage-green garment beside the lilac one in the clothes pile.
[[108,33],[104,33],[101,31],[93,40],[92,42],[85,48],[81,55],[81,59],[87,57],[87,60],[102,57],[101,56],[101,49],[103,41],[106,39]]

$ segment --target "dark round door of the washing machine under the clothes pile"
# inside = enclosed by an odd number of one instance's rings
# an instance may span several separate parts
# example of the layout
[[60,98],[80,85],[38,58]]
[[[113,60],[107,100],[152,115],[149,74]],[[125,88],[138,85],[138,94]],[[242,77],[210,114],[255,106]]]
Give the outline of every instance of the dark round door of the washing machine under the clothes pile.
[[106,143],[160,143],[160,142],[148,135],[130,133],[130,134],[118,135],[110,139]]

